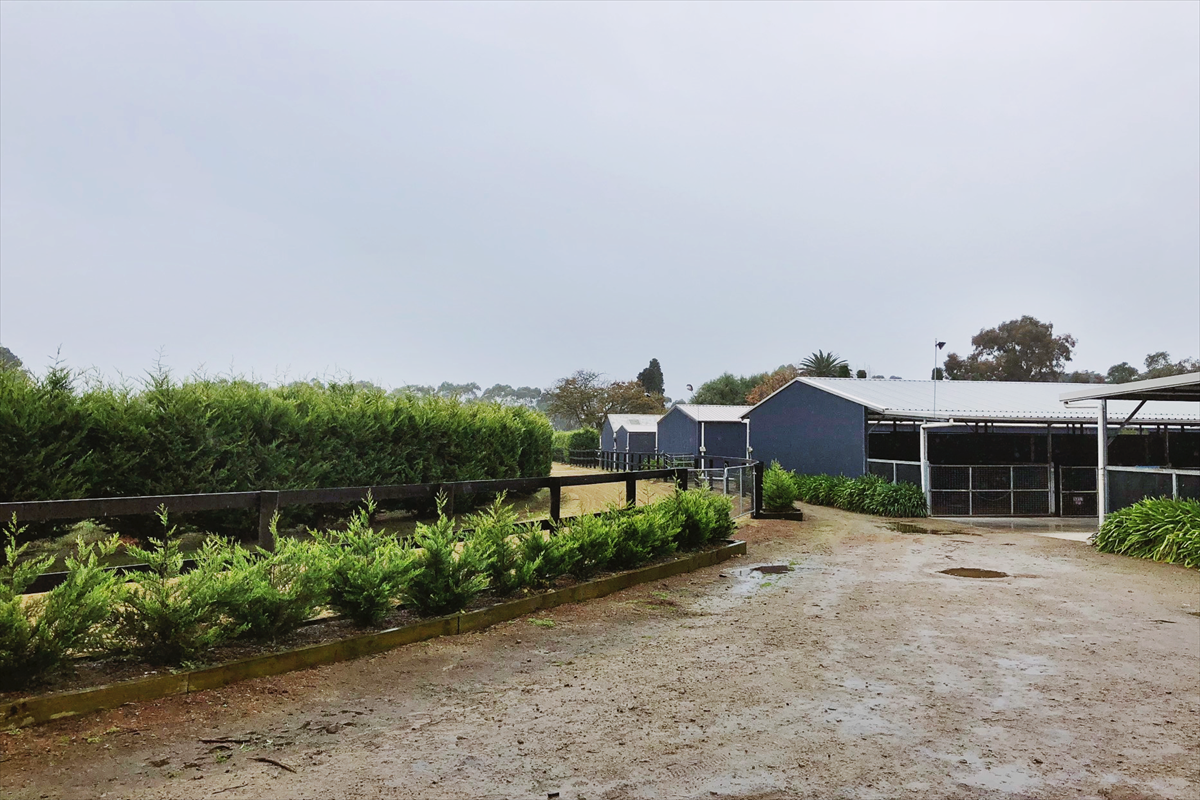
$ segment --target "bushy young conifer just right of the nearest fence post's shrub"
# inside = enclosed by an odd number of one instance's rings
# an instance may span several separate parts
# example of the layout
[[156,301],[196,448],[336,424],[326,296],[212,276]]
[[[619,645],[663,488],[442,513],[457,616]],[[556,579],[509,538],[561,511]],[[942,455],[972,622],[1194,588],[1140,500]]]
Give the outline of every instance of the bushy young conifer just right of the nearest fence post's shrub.
[[379,625],[403,594],[415,553],[371,527],[374,499],[350,516],[346,530],[313,533],[316,567],[324,572],[329,604],[359,625]]

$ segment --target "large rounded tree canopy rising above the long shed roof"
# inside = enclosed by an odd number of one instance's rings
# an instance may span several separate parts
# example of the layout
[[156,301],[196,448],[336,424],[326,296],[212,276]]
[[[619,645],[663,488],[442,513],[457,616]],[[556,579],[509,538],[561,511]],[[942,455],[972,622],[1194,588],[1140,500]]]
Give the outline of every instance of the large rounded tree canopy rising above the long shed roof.
[[1021,317],[971,337],[974,350],[966,359],[946,356],[950,380],[1042,380],[1056,381],[1070,361],[1075,337],[1054,335],[1054,325],[1033,317]]

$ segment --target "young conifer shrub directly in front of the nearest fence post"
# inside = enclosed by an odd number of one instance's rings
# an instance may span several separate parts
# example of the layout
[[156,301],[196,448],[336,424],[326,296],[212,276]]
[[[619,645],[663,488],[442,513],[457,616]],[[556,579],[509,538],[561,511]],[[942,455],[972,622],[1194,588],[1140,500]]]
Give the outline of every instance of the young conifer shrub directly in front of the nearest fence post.
[[[278,515],[271,519],[271,533]],[[326,597],[325,571],[311,542],[276,537],[275,551],[224,549],[214,573],[217,607],[242,634],[276,639],[300,627]]]

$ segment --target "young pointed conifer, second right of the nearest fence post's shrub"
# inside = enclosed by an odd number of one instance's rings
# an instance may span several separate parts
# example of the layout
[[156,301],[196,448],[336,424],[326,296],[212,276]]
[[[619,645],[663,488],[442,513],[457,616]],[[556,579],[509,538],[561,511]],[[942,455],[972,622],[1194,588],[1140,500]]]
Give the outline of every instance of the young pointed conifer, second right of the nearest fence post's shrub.
[[403,595],[406,604],[426,616],[461,612],[487,588],[482,557],[469,543],[458,548],[454,521],[442,513],[443,505],[439,498],[437,522],[416,525],[420,552]]

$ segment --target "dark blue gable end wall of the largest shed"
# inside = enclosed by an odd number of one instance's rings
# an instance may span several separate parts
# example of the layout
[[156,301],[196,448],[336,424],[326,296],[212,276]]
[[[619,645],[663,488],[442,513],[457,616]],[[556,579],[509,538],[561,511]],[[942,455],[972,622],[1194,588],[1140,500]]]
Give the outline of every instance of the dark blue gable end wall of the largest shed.
[[866,409],[805,384],[791,384],[750,411],[754,458],[805,475],[863,474]]

